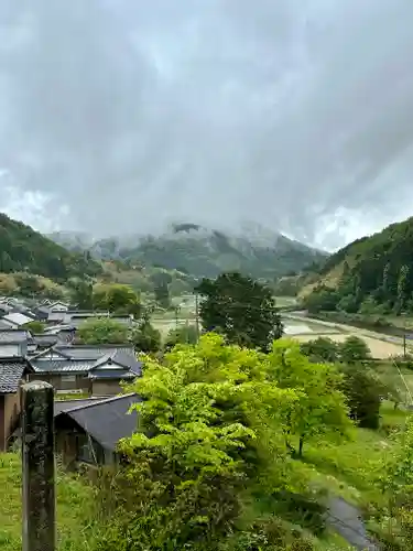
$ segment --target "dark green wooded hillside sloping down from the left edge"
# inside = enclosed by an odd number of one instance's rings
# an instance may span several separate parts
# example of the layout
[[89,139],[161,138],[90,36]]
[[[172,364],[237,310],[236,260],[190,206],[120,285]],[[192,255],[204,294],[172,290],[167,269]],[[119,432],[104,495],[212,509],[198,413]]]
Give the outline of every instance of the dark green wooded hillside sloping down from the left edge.
[[100,263],[88,253],[74,253],[30,226],[0,214],[0,272],[29,272],[57,281],[96,276]]

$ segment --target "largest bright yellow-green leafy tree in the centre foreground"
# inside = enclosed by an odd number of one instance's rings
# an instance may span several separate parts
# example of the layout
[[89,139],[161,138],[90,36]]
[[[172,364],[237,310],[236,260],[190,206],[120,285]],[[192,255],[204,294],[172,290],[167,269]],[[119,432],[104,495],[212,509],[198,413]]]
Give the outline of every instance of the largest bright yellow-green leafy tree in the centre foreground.
[[120,444],[128,462],[110,484],[120,508],[110,511],[105,549],[251,549],[229,543],[256,544],[261,532],[261,549],[274,549],[270,531],[242,516],[242,498],[307,485],[280,430],[294,390],[278,388],[264,354],[214,334],[176,346],[162,364],[143,361],[127,389],[143,401],[137,432]]

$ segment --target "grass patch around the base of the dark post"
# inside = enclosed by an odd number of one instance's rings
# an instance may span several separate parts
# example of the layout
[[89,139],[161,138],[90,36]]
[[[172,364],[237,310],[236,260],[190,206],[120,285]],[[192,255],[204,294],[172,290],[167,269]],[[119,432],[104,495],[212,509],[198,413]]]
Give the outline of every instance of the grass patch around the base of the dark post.
[[[18,454],[0,454],[0,549],[21,551],[22,497],[21,461]],[[78,478],[58,472],[57,550],[91,551],[97,525],[93,521],[91,488]]]

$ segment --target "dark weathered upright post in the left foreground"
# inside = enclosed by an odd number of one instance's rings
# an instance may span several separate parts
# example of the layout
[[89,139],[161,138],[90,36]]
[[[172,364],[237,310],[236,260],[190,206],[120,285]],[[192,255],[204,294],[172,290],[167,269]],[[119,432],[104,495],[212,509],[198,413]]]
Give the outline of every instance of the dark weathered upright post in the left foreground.
[[54,389],[21,388],[23,551],[55,551]]

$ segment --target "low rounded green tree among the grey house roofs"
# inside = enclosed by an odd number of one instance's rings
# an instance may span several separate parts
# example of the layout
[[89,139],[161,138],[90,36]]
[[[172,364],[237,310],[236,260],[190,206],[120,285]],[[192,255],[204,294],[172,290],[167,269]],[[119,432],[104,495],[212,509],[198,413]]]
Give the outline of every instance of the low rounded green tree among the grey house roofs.
[[128,327],[110,317],[91,318],[78,328],[83,344],[124,344],[129,341]]

